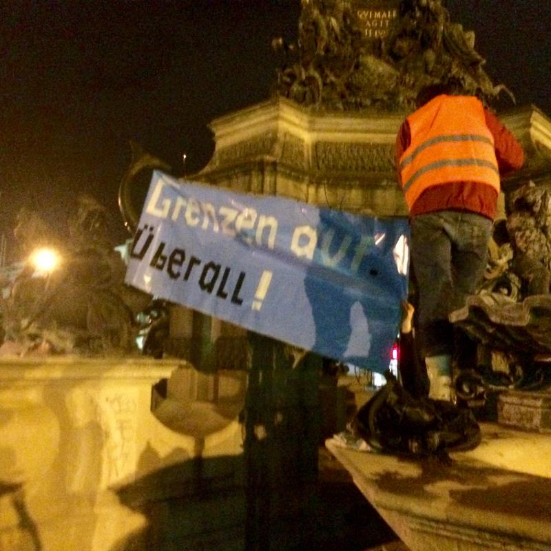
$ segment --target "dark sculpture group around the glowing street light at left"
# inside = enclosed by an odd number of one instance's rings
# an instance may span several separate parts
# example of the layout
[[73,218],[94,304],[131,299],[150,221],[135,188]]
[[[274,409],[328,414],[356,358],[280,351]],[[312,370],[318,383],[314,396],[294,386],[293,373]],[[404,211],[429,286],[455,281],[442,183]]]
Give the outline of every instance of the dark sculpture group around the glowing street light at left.
[[0,301],[4,339],[19,353],[113,353],[134,349],[134,314],[147,295],[124,284],[125,264],[114,250],[107,211],[82,195],[67,220],[61,240],[37,214],[21,211],[14,230],[21,251],[55,247],[59,268],[37,274],[25,264],[10,296]]

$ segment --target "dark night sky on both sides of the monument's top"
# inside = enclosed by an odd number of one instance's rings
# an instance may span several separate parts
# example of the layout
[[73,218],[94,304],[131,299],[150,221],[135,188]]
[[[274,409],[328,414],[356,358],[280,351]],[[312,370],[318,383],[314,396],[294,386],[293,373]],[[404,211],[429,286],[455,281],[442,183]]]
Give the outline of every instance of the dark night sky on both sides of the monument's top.
[[[475,31],[492,80],[551,116],[551,3],[447,5]],[[126,238],[129,140],[176,174],[184,152],[186,171],[205,166],[209,121],[269,97],[271,39],[293,41],[299,13],[300,0],[1,1],[0,233],[23,206],[63,231],[87,191],[112,213],[114,240]]]

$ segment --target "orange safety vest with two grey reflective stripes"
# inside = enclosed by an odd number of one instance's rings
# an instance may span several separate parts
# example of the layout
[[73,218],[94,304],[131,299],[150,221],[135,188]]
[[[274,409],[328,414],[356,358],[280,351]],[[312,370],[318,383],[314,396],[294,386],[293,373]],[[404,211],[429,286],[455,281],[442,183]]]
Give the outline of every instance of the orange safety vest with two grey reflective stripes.
[[474,96],[433,98],[407,117],[411,143],[399,159],[402,189],[411,210],[428,187],[477,182],[499,193],[494,138]]

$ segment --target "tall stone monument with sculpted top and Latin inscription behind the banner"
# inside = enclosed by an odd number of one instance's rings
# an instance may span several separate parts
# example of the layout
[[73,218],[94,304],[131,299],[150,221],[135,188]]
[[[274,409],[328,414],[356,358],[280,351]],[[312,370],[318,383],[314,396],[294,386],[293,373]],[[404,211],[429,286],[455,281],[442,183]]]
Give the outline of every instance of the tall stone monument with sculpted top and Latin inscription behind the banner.
[[[537,107],[515,107],[507,87],[490,81],[474,32],[451,21],[444,2],[302,0],[297,40],[276,37],[272,44],[282,65],[271,98],[212,121],[214,154],[187,178],[380,217],[407,216],[395,178],[397,129],[423,87],[453,81],[488,105],[508,103],[501,119],[525,149],[525,167],[503,181],[499,218],[510,214],[515,189],[530,181],[548,187],[549,119]],[[143,159],[135,171],[143,172]],[[207,360],[215,371],[247,361],[242,329],[184,308],[171,317],[171,351],[194,355],[194,363]]]

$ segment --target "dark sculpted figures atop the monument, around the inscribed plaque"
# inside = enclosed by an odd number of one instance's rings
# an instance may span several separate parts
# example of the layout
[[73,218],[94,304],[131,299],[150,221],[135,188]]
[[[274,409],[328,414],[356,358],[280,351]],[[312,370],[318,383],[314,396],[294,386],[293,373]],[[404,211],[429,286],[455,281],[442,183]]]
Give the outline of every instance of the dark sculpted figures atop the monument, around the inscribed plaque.
[[275,93],[324,110],[409,110],[428,85],[454,81],[490,103],[494,85],[475,50],[475,34],[450,21],[440,0],[403,0],[386,36],[366,38],[353,1],[302,0],[298,41],[275,39],[284,53]]

